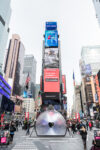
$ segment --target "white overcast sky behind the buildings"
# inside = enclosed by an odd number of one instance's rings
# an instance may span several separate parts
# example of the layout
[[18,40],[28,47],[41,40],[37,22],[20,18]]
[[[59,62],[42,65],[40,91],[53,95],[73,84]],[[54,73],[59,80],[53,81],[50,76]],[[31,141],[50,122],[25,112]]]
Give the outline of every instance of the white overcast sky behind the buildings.
[[66,75],[68,108],[73,101],[73,70],[81,81],[79,59],[83,46],[100,45],[100,27],[92,0],[12,0],[10,34],[20,35],[26,54],[37,61],[36,82],[42,66],[46,21],[57,21],[61,42],[62,72]]

